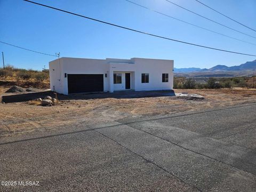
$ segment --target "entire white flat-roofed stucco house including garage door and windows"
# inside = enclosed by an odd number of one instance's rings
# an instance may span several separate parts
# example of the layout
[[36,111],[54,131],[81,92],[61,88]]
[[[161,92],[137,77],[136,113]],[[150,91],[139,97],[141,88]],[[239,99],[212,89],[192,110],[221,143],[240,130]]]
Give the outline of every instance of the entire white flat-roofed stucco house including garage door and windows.
[[60,58],[49,70],[51,90],[63,94],[173,88],[173,60]]

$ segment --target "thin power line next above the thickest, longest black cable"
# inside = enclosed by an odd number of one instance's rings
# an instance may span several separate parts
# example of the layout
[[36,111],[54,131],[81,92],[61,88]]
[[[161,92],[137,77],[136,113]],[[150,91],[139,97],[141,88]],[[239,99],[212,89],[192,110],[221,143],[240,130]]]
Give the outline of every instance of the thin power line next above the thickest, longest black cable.
[[195,25],[195,24],[193,24],[193,23],[190,23],[190,22],[187,22],[187,21],[178,19],[178,18],[174,18],[174,17],[172,17],[172,16],[170,16],[170,15],[167,15],[167,14],[165,14],[165,13],[161,13],[161,12],[155,11],[155,10],[153,10],[153,9],[150,9],[149,7],[140,5],[140,4],[138,4],[138,3],[134,3],[134,2],[129,1],[129,0],[124,0],[124,1],[129,2],[129,3],[132,3],[132,4],[134,4],[134,5],[138,5],[138,6],[140,6],[140,7],[142,7],[142,8],[145,8],[145,9],[147,9],[147,10],[149,10],[149,11],[153,11],[153,12],[155,12],[155,13],[162,14],[162,15],[164,15],[164,16],[166,16],[166,17],[175,19],[175,20],[177,20],[177,21],[181,21],[181,22],[186,23],[186,24],[188,24],[188,25],[191,25],[191,26],[194,26],[194,27],[198,27],[198,28],[201,28],[201,29],[210,31],[210,32],[215,33],[215,34],[219,34],[219,35],[222,35],[222,36],[225,36],[225,37],[228,37],[228,38],[232,38],[232,39],[235,39],[235,40],[240,41],[240,42],[249,43],[249,44],[251,44],[251,45],[256,45],[256,44],[254,44],[254,43],[246,42],[246,41],[244,41],[244,40],[242,40],[242,39],[238,39],[238,38],[231,37],[231,36],[228,36],[228,35],[225,35],[225,34],[221,34],[221,33],[217,32],[217,31],[213,31],[213,30],[210,30],[210,29],[206,29],[206,28],[204,28],[204,27],[197,26],[197,25]]

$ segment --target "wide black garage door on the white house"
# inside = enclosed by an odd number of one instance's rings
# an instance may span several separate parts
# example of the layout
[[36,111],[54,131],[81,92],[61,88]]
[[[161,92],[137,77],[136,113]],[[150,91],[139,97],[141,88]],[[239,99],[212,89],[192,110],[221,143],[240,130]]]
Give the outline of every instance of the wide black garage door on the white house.
[[68,74],[68,93],[102,91],[103,74]]

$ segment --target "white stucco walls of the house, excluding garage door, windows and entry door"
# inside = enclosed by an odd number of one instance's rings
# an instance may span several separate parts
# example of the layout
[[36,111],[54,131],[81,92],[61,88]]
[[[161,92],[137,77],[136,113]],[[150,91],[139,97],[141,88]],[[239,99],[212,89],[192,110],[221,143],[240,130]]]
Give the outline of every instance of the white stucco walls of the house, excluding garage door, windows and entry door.
[[[103,90],[125,90],[125,73],[131,73],[131,89],[135,91],[173,89],[173,60],[159,59],[79,59],[60,58],[49,63],[51,90],[68,94],[68,74],[103,74]],[[53,70],[54,69],[54,70]],[[114,73],[122,73],[122,84],[114,84]],[[149,83],[141,83],[141,74],[149,74]],[[162,74],[169,82],[162,82]],[[107,77],[105,77],[107,74]],[[54,87],[53,87],[54,86]]]

